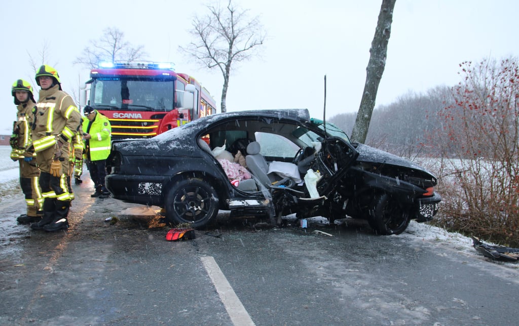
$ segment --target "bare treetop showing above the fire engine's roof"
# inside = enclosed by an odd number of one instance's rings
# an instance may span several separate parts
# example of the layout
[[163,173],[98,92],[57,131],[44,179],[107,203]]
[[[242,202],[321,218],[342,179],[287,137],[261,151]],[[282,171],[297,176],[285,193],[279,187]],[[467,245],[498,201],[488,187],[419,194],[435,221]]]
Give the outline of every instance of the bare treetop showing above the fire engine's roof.
[[144,52],[144,46],[133,47],[124,37],[125,34],[116,27],[107,27],[99,40],[89,41],[90,44],[83,50],[83,55],[78,56],[74,63],[95,68],[102,61],[145,59],[147,53]]

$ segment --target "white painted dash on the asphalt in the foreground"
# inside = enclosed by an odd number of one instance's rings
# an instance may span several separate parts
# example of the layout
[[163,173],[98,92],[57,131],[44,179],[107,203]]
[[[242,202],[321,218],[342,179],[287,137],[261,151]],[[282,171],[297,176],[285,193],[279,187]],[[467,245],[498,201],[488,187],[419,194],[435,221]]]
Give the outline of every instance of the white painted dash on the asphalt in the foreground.
[[218,264],[213,257],[206,256],[201,257],[200,260],[203,263],[203,266],[206,268],[207,274],[213,281],[214,287],[216,288],[216,292],[220,295],[220,300],[225,306],[227,310],[227,314],[233,324],[235,325],[255,325],[249,316],[245,307],[241,304],[238,295],[234,292],[233,288],[231,288],[227,278],[220,270]]

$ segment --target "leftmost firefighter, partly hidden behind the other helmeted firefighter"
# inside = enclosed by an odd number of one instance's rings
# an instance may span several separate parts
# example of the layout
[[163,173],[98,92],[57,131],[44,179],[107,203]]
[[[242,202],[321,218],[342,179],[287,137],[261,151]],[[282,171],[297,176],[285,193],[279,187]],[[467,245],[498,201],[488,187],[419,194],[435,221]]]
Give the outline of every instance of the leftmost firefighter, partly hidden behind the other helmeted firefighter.
[[43,204],[42,191],[38,185],[39,170],[36,166],[35,155],[24,157],[25,147],[31,143],[31,126],[34,121],[32,109],[35,101],[32,86],[28,81],[18,79],[12,84],[11,94],[17,105],[17,119],[13,123],[11,159],[20,164],[20,188],[25,195],[27,210],[16,220],[20,224],[38,222],[42,219],[40,207]]

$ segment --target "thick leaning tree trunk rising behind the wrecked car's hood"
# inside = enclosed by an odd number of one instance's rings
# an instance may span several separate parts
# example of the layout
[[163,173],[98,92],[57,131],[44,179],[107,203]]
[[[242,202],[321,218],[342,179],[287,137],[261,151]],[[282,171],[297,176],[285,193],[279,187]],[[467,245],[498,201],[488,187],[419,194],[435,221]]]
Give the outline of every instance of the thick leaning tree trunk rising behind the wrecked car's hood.
[[364,84],[364,92],[362,93],[362,100],[359,107],[359,113],[351,139],[364,143],[366,141],[367,131],[370,127],[371,116],[373,108],[375,107],[375,99],[377,97],[378,84],[384,73],[386,66],[386,55],[391,34],[391,23],[393,21],[393,8],[396,0],[382,0],[380,13],[378,14],[377,28],[375,29],[375,36],[371,43],[370,61],[366,68],[366,82]]

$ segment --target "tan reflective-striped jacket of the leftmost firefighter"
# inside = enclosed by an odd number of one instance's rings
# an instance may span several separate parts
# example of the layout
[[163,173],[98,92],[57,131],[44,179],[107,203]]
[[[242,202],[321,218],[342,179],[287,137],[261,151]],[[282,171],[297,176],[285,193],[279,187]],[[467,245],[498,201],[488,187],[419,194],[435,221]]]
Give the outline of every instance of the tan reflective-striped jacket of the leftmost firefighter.
[[31,126],[34,121],[32,113],[34,102],[29,99],[26,103],[17,106],[16,121],[12,128],[12,137],[16,137],[15,145],[12,146],[11,159],[23,159],[23,150],[31,143]]

